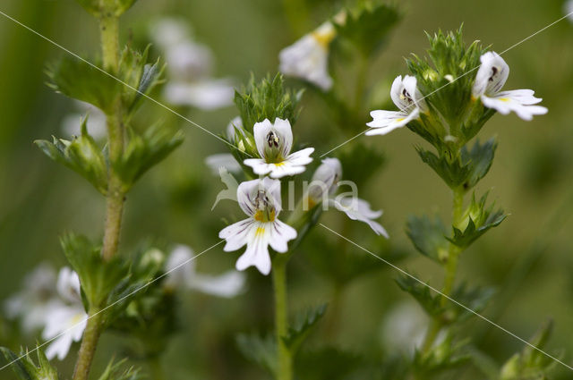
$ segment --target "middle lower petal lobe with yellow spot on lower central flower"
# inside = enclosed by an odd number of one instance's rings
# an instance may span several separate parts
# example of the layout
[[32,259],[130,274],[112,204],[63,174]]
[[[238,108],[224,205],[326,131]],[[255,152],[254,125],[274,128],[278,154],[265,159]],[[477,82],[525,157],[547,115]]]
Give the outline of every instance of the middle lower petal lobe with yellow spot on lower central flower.
[[261,274],[270,272],[269,237],[272,222],[257,223],[249,232],[247,249],[236,261],[236,269],[244,270],[249,266],[256,266]]

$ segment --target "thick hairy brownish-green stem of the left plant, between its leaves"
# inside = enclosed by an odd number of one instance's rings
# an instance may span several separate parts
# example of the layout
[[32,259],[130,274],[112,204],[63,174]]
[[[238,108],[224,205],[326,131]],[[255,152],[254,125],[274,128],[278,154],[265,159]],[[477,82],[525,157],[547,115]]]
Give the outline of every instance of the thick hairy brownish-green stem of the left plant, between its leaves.
[[[119,70],[119,21],[117,17],[102,17],[99,20],[99,31],[104,69],[116,75]],[[109,159],[113,161],[121,157],[124,152],[123,109],[120,95],[117,95],[115,99],[113,113],[107,114],[107,134]],[[102,249],[102,256],[105,260],[113,258],[117,253],[124,210],[124,192],[121,182],[111,167],[108,169],[107,176],[106,224]],[[88,380],[91,362],[103,329],[103,316],[98,314],[98,309],[90,310],[88,314],[90,317],[81,338],[80,351],[73,370],[73,380]]]

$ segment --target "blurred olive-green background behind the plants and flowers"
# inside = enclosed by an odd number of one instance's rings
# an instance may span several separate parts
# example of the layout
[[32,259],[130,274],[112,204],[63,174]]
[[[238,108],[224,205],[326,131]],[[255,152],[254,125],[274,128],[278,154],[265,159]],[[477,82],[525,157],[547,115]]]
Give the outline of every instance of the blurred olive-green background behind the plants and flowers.
[[[308,4],[310,28],[335,13],[340,5],[319,0],[308,0]],[[133,38],[136,45],[143,47],[150,22],[163,16],[184,18],[195,37],[213,49],[217,76],[233,77],[240,84],[248,80],[251,72],[257,78],[276,72],[278,51],[300,37],[289,27],[283,5],[278,0],[139,0],[122,18],[122,39]],[[428,45],[424,31],[455,30],[463,23],[466,42],[480,39],[501,52],[563,16],[560,0],[410,0],[398,2],[398,6],[404,13],[403,20],[369,73],[369,82],[385,80],[385,92],[389,91],[390,80],[406,73],[405,56],[411,52],[423,55]],[[96,21],[73,0],[3,0],[0,11],[79,55],[90,57],[98,53]],[[73,109],[70,99],[45,85],[46,64],[64,54],[0,15],[0,300],[17,291],[22,277],[38,263],[65,264],[58,242],[62,232],[73,230],[92,238],[102,233],[104,199],[79,176],[48,160],[32,144],[34,139],[62,135],[61,121]],[[564,349],[564,358],[570,362],[573,23],[560,21],[512,48],[504,57],[511,67],[506,88],[535,89],[549,114],[536,117],[533,122],[523,122],[515,114],[495,115],[481,132],[482,139],[497,136],[499,148],[492,170],[478,190],[492,188],[490,197],[510,215],[463,255],[459,278],[496,287],[498,293],[484,315],[519,336],[530,336],[547,317],[552,317],[555,334],[549,350]],[[231,204],[221,204],[210,213],[210,205],[222,185],[203,160],[210,154],[225,152],[226,147],[157,105],[147,102],[141,108],[145,117],[164,120],[183,130],[185,141],[130,194],[122,248],[128,251],[150,237],[185,243],[200,252],[218,241],[223,218],[228,219],[229,213],[240,215]],[[224,131],[235,116],[233,107],[210,113],[183,112],[215,133]],[[366,112],[367,106],[365,118]],[[321,154],[352,136],[333,131],[331,123],[320,98],[307,92],[295,132],[298,139],[308,141]],[[357,125],[354,131],[362,128]],[[438,213],[448,218],[449,191],[417,158],[413,146],[422,141],[414,134],[402,130],[384,138],[362,137],[360,143],[381,149],[387,157],[384,169],[374,173],[369,186],[361,189],[361,197],[371,200],[374,208],[384,209],[382,224],[389,230],[393,249],[413,253],[404,232],[407,215]],[[346,174],[351,177],[351,173]],[[337,226],[338,219],[333,217],[331,223]],[[365,225],[353,228],[356,239],[366,235],[370,239],[371,232]],[[327,231],[313,233],[331,238]],[[304,255],[304,248],[301,250]],[[328,258],[337,252],[322,254]],[[218,272],[232,267],[236,257],[218,247],[201,257],[198,266]],[[413,254],[399,265],[415,271],[425,281],[441,283],[440,268],[426,258]],[[377,266],[380,267],[351,283],[341,294],[338,333],[321,332],[313,337],[314,341],[321,341],[322,336],[346,350],[380,350],[384,316],[398,300],[409,296],[393,283],[395,272],[382,262]],[[329,283],[315,274],[304,259],[295,258],[291,272],[293,308],[332,298]],[[249,286],[250,291],[234,300],[197,293],[182,297],[181,330],[163,358],[168,378],[266,378],[235,350],[236,332],[272,328],[269,278],[249,271]],[[3,324],[2,328],[0,343],[17,349],[9,325]],[[482,320],[474,320],[469,328],[481,338],[477,342],[481,350],[498,363],[522,346]],[[98,350],[98,369],[113,352],[121,356],[116,343],[122,340],[114,334],[105,335]],[[25,343],[31,346],[34,342],[30,338]],[[70,373],[74,356],[71,353],[64,361],[62,373]],[[464,378],[480,378],[474,372],[468,371]],[[10,371],[0,373],[3,379],[11,376]],[[573,378],[560,370],[557,376]]]

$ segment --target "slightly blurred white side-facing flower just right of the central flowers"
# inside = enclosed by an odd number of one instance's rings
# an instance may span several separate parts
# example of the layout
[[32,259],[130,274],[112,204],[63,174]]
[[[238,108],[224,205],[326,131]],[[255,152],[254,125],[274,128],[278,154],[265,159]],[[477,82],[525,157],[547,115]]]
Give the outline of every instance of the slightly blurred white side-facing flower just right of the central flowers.
[[388,238],[388,232],[374,219],[382,215],[382,211],[373,211],[370,204],[353,196],[339,195],[332,197],[338,190],[338,181],[342,178],[342,165],[338,158],[325,158],[322,164],[312,175],[312,182],[309,186],[307,200],[308,206],[313,207],[321,202],[327,206],[334,206],[339,211],[344,212],[350,219],[358,220],[368,224],[373,232]]

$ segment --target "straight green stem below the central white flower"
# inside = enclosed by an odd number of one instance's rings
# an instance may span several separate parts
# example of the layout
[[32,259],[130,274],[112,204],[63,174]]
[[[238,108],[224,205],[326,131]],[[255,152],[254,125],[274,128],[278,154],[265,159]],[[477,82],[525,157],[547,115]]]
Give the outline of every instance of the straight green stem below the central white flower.
[[277,329],[278,369],[277,380],[293,379],[293,358],[283,342],[287,333],[286,311],[286,260],[275,259],[272,267],[273,288],[275,291],[275,327]]

